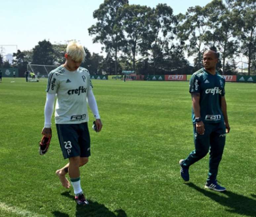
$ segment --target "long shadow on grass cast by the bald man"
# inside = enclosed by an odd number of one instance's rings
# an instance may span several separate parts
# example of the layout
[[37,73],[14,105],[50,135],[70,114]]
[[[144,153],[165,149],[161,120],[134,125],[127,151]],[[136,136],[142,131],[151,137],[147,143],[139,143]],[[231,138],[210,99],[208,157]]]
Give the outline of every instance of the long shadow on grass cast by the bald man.
[[[237,213],[239,215],[256,216],[256,200],[252,198],[235,194],[231,191],[217,193],[211,190],[204,190],[191,182],[186,183],[186,185],[194,188],[196,191],[199,191],[219,204],[228,207],[228,212]],[[252,197],[256,198],[256,195],[252,195]]]

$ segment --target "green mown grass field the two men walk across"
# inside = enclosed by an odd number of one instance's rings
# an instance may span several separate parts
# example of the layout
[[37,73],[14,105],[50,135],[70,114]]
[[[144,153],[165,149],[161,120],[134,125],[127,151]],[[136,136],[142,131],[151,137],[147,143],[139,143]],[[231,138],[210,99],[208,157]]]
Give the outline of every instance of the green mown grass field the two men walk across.
[[225,193],[204,190],[208,156],[190,168],[189,183],[180,178],[178,162],[193,149],[188,82],[93,84],[104,126],[98,134],[90,127],[92,155],[80,170],[90,205],[79,207],[55,175],[67,161],[54,124],[49,151],[38,154],[46,80],[3,78],[1,217],[256,216],[256,84],[226,83],[231,132],[218,174]]

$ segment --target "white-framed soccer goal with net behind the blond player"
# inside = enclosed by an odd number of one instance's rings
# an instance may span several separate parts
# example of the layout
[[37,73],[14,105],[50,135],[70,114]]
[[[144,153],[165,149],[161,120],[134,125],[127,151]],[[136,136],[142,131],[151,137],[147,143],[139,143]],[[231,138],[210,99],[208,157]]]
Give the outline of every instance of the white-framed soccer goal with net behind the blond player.
[[48,74],[59,66],[27,64],[27,71],[35,74],[36,78],[48,78]]

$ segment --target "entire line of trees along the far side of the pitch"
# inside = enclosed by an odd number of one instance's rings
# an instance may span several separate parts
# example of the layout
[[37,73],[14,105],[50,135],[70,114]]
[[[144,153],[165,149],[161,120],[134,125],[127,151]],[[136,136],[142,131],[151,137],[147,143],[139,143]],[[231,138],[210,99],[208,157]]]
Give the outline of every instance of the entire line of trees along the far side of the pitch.
[[[106,57],[85,47],[82,64],[91,74],[192,74],[202,67],[205,49],[219,53],[218,69],[233,74],[238,57],[246,57],[248,75],[256,71],[256,1],[213,0],[204,7],[190,7],[174,15],[171,6],[154,8],[130,5],[128,0],[104,0],[93,12],[97,20],[89,29],[93,43],[100,43]],[[30,51],[14,53],[13,66],[27,63],[55,65],[64,62],[64,44],[38,42]],[[194,57],[191,67],[185,58]],[[2,62],[0,58],[0,64]]]

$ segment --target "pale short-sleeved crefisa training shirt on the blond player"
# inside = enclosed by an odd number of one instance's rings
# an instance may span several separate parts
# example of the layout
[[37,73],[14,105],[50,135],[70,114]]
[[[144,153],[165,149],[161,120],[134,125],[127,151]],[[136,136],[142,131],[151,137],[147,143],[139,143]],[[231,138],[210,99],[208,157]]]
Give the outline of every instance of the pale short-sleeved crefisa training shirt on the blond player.
[[63,66],[51,71],[46,92],[57,95],[55,105],[56,124],[88,122],[87,94],[92,83],[89,71],[79,67],[70,72]]

